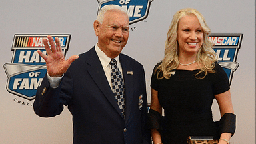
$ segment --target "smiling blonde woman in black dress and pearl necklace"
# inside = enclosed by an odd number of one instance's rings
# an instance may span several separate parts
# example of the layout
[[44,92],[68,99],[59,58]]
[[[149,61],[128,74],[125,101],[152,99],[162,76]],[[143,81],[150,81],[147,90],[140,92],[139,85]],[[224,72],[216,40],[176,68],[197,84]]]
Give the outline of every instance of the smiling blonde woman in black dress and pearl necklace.
[[[185,144],[189,136],[213,136],[226,144],[235,132],[229,81],[216,62],[209,33],[196,9],[181,9],[173,16],[165,57],[151,78],[149,125],[156,144]],[[219,122],[212,118],[213,99],[219,105]]]

